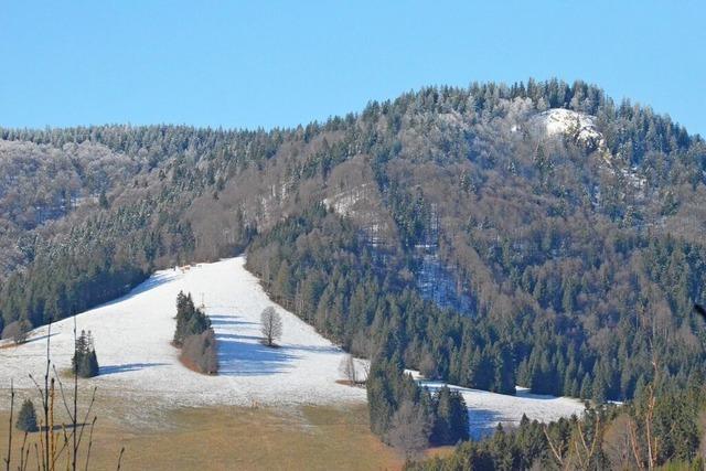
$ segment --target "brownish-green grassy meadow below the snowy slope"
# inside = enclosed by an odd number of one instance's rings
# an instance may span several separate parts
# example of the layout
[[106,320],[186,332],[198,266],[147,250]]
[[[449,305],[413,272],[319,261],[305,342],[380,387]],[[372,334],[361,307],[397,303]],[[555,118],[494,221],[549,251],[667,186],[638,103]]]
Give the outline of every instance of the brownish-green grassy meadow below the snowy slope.
[[[0,413],[3,457],[8,416]],[[163,427],[136,428],[99,413],[90,468],[115,469],[121,447],[125,470],[397,470],[403,464],[368,431],[365,406],[184,408],[163,411],[160,421]],[[34,440],[39,437],[31,435]],[[15,432],[13,441],[17,457],[22,436]]]

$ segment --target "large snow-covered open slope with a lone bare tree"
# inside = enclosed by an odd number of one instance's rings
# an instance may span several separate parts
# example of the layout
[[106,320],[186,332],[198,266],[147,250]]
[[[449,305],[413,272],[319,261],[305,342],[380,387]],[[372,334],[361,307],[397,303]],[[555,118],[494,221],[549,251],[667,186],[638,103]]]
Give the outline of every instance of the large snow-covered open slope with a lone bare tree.
[[[343,352],[295,314],[282,317],[279,349],[259,343],[259,315],[274,303],[244,267],[245,258],[158,271],[125,298],[79,314],[78,330],[90,330],[100,376],[86,381],[105,393],[174,406],[287,405],[363,402],[365,390],[336,383]],[[170,345],[175,299],[191,292],[205,302],[220,342],[218,376],[186,370]],[[52,360],[71,367],[73,319],[52,327]],[[28,373],[43,375],[46,328],[18,347],[0,349],[0,381],[29,388]]]

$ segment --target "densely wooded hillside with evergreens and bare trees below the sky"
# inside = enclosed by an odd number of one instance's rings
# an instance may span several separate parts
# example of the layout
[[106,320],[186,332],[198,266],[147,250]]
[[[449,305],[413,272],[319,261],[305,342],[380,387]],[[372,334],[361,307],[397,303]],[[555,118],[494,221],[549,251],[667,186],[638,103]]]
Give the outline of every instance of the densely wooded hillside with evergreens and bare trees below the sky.
[[[706,143],[558,81],[425,88],[296,129],[0,130],[4,325],[248,250],[356,354],[629,398],[702,377]],[[38,191],[39,190],[39,191]]]

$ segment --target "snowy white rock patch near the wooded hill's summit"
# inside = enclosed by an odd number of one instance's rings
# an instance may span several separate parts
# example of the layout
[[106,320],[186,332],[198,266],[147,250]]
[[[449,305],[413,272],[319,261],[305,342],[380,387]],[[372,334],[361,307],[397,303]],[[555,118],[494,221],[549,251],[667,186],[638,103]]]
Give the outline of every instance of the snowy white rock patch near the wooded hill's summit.
[[535,120],[544,127],[547,136],[573,136],[577,143],[602,149],[603,135],[596,127],[596,117],[570,109],[553,108],[541,113]]

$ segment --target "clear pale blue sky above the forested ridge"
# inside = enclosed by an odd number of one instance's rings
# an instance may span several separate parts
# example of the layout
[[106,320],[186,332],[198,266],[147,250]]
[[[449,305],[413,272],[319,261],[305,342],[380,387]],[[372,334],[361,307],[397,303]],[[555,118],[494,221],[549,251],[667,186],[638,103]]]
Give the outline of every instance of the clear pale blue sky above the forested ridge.
[[293,126],[531,76],[706,135],[706,2],[0,0],[6,127]]

